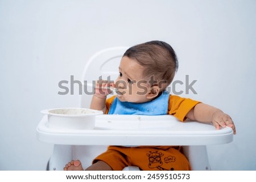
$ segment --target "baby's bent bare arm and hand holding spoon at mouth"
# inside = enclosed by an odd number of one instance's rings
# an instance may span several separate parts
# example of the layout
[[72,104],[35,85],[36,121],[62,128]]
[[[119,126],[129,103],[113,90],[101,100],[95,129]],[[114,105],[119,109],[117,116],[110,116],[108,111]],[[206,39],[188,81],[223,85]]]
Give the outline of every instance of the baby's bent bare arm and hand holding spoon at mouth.
[[95,94],[93,95],[92,101],[90,103],[90,109],[96,109],[99,111],[106,112],[106,96],[111,94],[111,90],[108,86],[114,86],[113,83],[109,83],[107,81],[98,81],[95,88]]

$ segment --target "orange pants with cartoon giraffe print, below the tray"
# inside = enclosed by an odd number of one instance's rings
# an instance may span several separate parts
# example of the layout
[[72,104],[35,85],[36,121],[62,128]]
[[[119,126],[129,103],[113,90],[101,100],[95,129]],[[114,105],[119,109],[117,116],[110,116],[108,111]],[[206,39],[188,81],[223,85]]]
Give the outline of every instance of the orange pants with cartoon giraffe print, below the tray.
[[180,150],[181,147],[174,146],[109,146],[93,163],[102,160],[115,171],[121,171],[126,166],[138,166],[143,171],[191,170],[187,158]]

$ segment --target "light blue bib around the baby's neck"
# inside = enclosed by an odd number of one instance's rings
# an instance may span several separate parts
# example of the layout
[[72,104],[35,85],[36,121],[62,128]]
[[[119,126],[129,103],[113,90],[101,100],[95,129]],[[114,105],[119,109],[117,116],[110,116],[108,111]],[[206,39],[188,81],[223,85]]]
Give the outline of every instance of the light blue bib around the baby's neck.
[[115,98],[109,115],[166,115],[168,111],[169,92],[163,91],[158,98],[146,103],[130,103]]

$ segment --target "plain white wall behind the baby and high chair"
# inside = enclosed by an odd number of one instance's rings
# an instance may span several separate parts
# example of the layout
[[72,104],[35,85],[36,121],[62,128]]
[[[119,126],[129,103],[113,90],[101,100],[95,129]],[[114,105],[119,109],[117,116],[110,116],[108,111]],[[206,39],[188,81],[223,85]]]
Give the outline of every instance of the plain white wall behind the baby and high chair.
[[[237,135],[209,146],[212,170],[256,170],[256,1],[0,1],[0,170],[45,170],[53,146],[36,139],[47,108],[78,107],[58,83],[80,79],[98,50],[171,44],[175,79],[228,113]],[[180,87],[180,90],[184,87]],[[63,91],[63,90],[62,90]]]

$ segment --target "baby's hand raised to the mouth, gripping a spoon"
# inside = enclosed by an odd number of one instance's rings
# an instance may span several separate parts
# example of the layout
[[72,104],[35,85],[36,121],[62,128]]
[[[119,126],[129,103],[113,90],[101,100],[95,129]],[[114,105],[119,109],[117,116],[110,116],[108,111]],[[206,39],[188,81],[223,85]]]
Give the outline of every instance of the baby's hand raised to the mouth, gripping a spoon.
[[95,94],[97,96],[107,96],[112,93],[112,91],[107,87],[115,87],[115,84],[113,82],[109,81],[97,81],[96,87],[95,87]]

